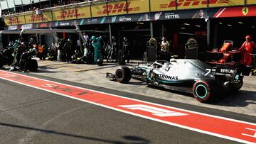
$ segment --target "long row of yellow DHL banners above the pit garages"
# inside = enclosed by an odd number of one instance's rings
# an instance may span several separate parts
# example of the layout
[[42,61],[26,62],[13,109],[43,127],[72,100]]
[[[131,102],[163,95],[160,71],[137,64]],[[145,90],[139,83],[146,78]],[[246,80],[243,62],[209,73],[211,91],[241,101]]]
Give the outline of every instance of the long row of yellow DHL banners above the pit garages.
[[[149,5],[150,1],[150,5]],[[208,4],[209,3],[209,4]],[[4,18],[6,26],[24,23],[42,23],[49,21],[63,21],[78,18],[99,16],[113,16],[129,13],[145,13],[151,11],[171,11],[177,9],[199,9],[220,6],[242,6],[244,0],[127,0],[115,1],[107,4],[80,6],[70,9],[43,12],[43,15],[30,14],[25,16],[11,16]],[[255,0],[247,0],[247,4],[256,4]]]

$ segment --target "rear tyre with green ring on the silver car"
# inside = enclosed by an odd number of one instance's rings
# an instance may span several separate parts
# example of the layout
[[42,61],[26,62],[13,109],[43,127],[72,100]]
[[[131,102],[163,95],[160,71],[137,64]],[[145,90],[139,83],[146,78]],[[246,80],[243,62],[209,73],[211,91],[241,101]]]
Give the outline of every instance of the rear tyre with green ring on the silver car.
[[210,103],[215,100],[217,91],[214,81],[198,80],[193,84],[193,96],[202,103]]

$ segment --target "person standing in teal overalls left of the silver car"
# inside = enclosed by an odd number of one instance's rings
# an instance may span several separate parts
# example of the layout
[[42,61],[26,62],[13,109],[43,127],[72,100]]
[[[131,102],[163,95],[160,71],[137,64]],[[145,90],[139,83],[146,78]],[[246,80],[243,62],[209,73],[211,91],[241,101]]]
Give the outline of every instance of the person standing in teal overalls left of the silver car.
[[100,44],[100,40],[102,40],[102,37],[96,38],[95,36],[92,36],[92,46],[95,49],[95,57],[94,57],[94,63],[97,65],[102,65],[102,45]]

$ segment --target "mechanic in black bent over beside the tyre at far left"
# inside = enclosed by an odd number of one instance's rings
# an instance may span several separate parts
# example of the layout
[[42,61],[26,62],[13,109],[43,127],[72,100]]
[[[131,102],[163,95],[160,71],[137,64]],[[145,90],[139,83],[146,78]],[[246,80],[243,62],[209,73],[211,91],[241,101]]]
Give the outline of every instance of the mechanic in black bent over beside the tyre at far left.
[[21,60],[18,62],[18,70],[24,70],[24,72],[29,72],[28,71],[28,61],[31,60],[31,58],[33,57],[33,55],[36,55],[36,48],[33,48],[30,51],[27,52],[23,52],[23,54],[21,55]]

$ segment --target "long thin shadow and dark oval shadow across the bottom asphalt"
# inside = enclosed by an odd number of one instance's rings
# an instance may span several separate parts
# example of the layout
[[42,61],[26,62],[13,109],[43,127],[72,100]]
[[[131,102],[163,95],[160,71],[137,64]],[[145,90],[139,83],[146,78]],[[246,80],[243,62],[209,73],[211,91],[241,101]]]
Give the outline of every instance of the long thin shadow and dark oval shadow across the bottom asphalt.
[[[122,141],[116,141],[116,140],[105,140],[102,138],[92,138],[92,137],[87,137],[84,135],[75,135],[75,134],[71,134],[71,133],[61,133],[58,131],[52,131],[52,130],[47,130],[47,129],[42,129],[42,128],[33,128],[33,127],[28,127],[28,126],[19,126],[19,125],[15,125],[15,124],[9,124],[9,123],[1,123],[0,122],[0,126],[8,126],[11,128],[21,128],[21,129],[26,129],[26,130],[30,130],[30,131],[39,131],[42,133],[48,133],[48,134],[54,134],[54,135],[64,135],[64,136],[69,136],[69,137],[73,137],[73,138],[82,138],[82,139],[87,139],[87,140],[94,140],[97,142],[103,142],[103,143],[114,143],[114,144],[127,144],[127,142],[122,142]],[[146,140],[144,138],[140,138],[137,136],[131,136],[131,135],[125,135],[122,136],[122,138],[124,138],[125,140],[132,140],[132,143],[135,144],[140,144],[140,143],[150,143],[149,140]]]

